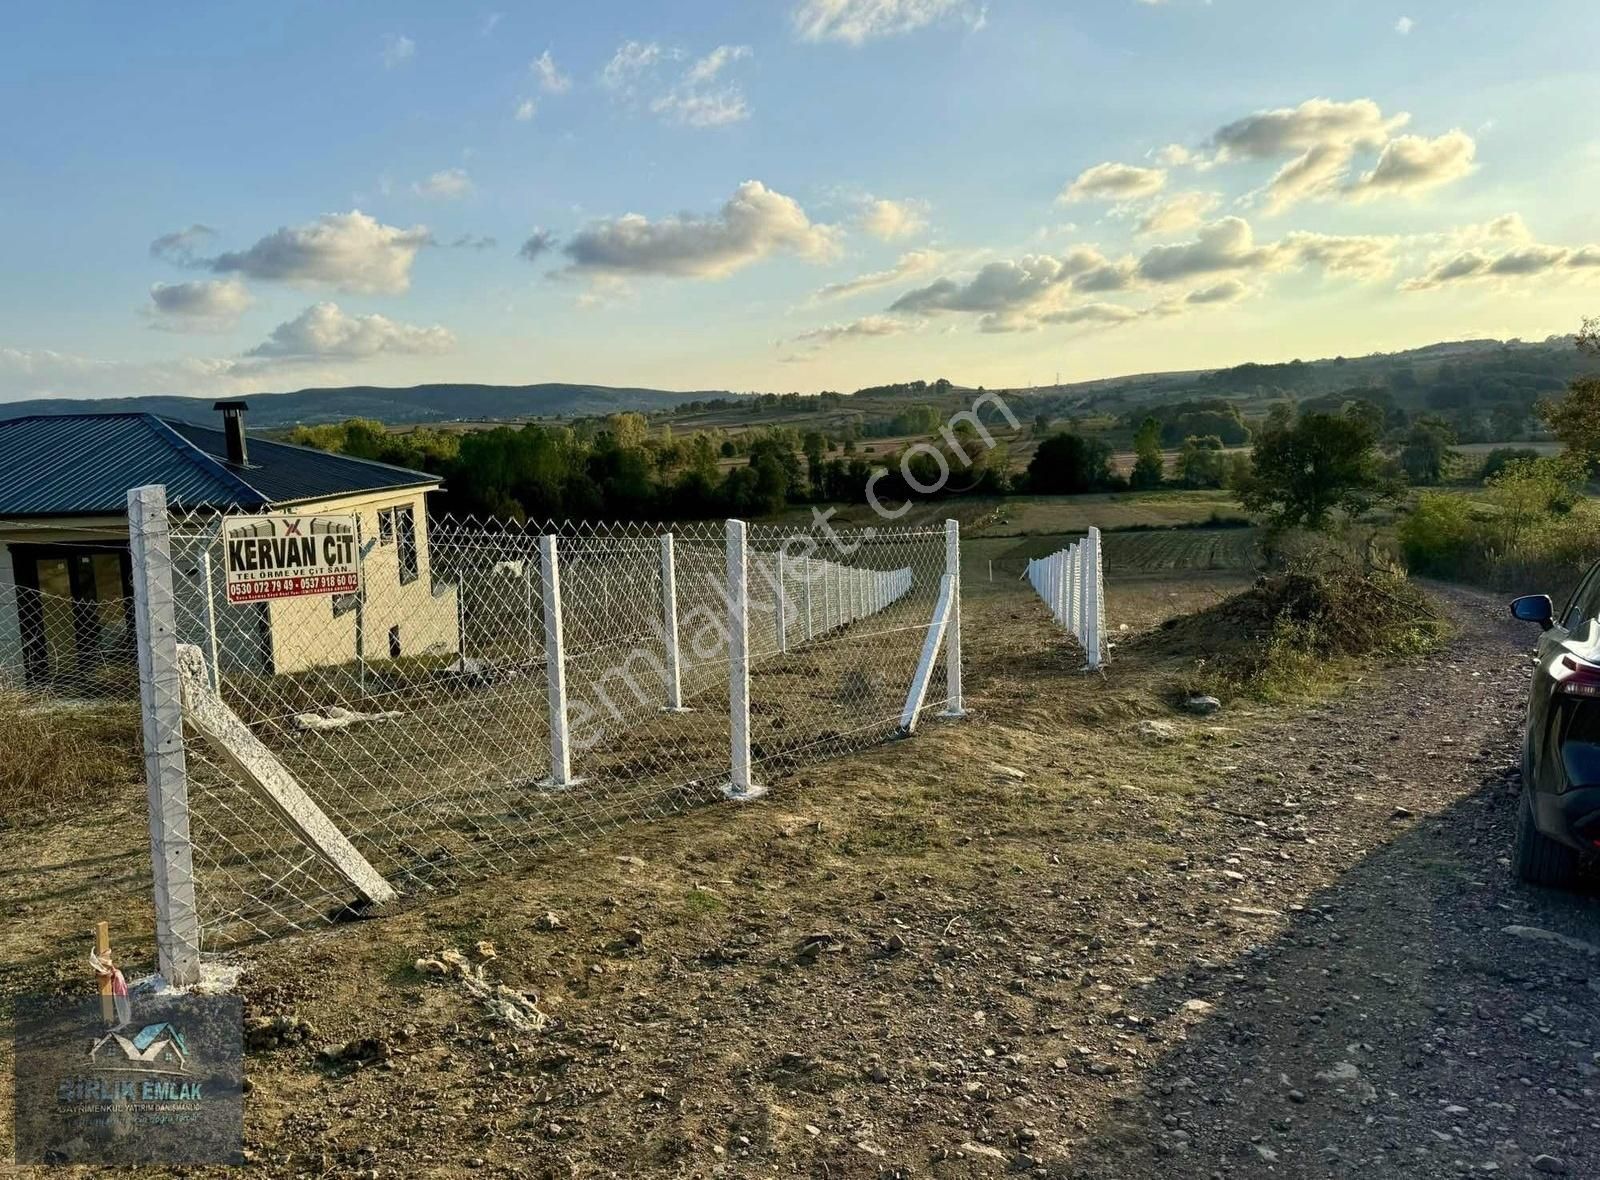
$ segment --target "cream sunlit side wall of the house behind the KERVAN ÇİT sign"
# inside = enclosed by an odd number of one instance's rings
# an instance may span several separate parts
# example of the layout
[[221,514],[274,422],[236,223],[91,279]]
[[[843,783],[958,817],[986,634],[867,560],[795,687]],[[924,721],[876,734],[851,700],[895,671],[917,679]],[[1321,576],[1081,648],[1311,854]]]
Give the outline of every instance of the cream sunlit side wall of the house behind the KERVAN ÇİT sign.
[[[418,577],[400,582],[398,544],[379,539],[378,513],[410,505],[416,520]],[[285,598],[267,604],[272,622],[272,667],[304,672],[357,657],[357,620],[362,657],[387,660],[389,632],[400,628],[400,656],[454,654],[459,635],[456,587],[435,593],[429,555],[427,499],[422,489],[318,500],[299,508],[307,515],[355,515],[362,531],[362,608],[334,614],[333,598]],[[237,609],[237,608],[235,608]]]

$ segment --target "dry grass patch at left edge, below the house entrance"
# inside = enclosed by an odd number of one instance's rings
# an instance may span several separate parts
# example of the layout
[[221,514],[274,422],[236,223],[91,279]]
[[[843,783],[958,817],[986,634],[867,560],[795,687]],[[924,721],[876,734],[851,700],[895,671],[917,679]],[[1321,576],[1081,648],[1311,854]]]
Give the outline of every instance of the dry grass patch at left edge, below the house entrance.
[[138,779],[133,705],[80,705],[0,692],[0,828],[77,809]]

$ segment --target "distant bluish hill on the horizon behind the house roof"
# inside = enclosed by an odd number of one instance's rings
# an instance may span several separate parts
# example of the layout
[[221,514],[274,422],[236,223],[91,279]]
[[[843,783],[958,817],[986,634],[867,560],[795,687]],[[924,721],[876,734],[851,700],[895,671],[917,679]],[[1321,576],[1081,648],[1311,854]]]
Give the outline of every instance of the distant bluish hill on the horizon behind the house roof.
[[[293,393],[251,393],[251,429],[315,425],[347,417],[376,417],[390,425],[416,422],[483,422],[531,417],[589,417],[621,411],[672,409],[685,401],[738,397],[726,390],[674,393],[664,389],[611,385],[346,385]],[[0,403],[0,419],[29,414],[150,413],[184,422],[211,422],[216,398],[38,398]]]

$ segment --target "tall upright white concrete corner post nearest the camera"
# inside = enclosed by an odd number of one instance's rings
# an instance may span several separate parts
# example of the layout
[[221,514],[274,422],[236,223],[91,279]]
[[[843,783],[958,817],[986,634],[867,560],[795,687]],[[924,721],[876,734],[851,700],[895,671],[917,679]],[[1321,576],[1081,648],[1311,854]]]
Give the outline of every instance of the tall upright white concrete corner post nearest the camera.
[[133,619],[139,644],[139,718],[144,782],[150,809],[150,871],[155,886],[155,963],[174,987],[200,982],[200,915],[195,908],[194,846],[189,839],[189,775],[184,705],[178,676],[178,608],[166,532],[166,488],[128,492],[133,556]]

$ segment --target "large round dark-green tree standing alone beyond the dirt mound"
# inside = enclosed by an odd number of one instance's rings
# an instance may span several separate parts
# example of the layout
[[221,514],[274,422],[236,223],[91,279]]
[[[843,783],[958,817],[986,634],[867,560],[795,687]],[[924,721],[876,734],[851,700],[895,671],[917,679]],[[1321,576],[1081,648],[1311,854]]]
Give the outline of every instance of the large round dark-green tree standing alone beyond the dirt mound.
[[1338,512],[1358,516],[1394,491],[1379,473],[1376,441],[1371,424],[1346,414],[1269,419],[1240,500],[1275,528],[1326,529]]

